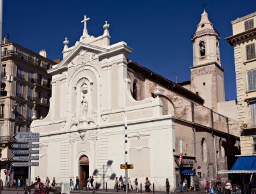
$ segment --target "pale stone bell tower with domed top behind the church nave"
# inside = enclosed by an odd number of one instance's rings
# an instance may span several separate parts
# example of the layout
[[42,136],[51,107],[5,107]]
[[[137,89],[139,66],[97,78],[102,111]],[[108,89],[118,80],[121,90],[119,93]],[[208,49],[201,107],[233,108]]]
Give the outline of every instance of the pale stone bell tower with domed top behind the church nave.
[[224,75],[220,64],[220,35],[203,11],[201,21],[192,36],[193,66],[191,91],[201,96],[206,107],[217,110],[217,103],[225,101]]

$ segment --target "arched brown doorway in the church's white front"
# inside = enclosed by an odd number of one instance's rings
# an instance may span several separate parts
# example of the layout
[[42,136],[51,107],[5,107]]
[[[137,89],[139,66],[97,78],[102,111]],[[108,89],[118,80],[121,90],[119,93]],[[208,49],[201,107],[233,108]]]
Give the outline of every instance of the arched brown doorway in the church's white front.
[[79,158],[80,187],[86,187],[86,180],[89,177],[89,158],[83,155]]

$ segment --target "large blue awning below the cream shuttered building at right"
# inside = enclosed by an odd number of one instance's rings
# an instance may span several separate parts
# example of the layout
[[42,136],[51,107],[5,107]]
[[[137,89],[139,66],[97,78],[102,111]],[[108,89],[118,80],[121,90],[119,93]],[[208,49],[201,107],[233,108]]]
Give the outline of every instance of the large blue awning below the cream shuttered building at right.
[[256,171],[256,156],[239,156],[231,171]]

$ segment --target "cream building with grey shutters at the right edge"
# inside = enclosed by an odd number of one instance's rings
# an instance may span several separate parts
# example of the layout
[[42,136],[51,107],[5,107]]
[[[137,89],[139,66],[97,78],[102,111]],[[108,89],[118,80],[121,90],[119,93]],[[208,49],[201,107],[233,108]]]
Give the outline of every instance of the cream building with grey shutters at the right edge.
[[256,154],[256,12],[235,19],[233,34],[241,154]]

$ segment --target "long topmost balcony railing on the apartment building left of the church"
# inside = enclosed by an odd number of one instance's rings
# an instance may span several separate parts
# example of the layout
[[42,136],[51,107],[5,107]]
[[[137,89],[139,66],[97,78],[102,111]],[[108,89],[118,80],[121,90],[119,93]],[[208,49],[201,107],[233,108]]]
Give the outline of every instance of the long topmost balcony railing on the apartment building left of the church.
[[34,59],[35,56],[28,56],[28,55],[24,54],[23,52],[16,52],[15,50],[5,50],[4,52],[2,52],[2,56],[3,57],[4,56],[17,56],[18,58],[21,58],[22,60],[31,62],[35,66],[40,66],[46,70],[51,68],[51,64],[49,64],[48,62],[44,62],[38,58]]

